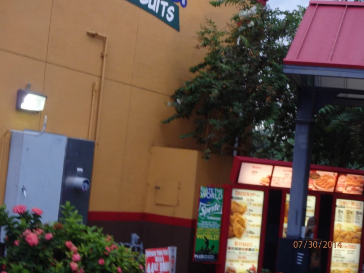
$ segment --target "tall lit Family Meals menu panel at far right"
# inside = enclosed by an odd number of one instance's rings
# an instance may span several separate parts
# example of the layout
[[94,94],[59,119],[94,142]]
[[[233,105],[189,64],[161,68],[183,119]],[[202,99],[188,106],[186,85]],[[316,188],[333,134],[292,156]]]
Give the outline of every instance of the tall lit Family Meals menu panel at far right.
[[359,273],[363,207],[362,201],[336,199],[331,273]]

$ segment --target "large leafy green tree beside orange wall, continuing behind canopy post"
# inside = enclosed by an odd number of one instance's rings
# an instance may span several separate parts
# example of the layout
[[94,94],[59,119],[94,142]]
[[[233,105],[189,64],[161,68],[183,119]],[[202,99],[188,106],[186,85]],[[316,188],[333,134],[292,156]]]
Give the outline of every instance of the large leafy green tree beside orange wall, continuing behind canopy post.
[[[196,76],[171,96],[176,112],[164,120],[192,119],[194,137],[210,152],[292,160],[296,90],[283,73],[283,58],[304,8],[280,11],[255,0],[217,0],[236,5],[228,30],[211,20],[198,32],[205,58],[190,68]],[[359,168],[364,165],[361,108],[326,106],[315,115],[314,164]]]

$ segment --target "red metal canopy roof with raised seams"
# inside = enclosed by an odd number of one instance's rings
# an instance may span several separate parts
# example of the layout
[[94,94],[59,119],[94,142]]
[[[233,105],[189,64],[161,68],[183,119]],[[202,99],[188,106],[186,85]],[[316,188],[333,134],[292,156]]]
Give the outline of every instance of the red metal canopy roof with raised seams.
[[364,68],[364,2],[311,0],[285,65]]

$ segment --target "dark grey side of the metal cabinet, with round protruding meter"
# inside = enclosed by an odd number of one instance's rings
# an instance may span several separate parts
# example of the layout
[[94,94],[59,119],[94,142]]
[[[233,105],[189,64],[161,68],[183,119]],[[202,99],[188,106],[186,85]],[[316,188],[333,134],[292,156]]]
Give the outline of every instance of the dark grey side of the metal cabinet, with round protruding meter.
[[[66,148],[65,179],[61,197],[61,205],[69,201],[87,223],[87,214],[90,201],[91,176],[93,168],[95,142],[85,139],[68,138]],[[78,179],[81,188],[76,189],[74,183]],[[60,217],[63,214],[60,212]]]

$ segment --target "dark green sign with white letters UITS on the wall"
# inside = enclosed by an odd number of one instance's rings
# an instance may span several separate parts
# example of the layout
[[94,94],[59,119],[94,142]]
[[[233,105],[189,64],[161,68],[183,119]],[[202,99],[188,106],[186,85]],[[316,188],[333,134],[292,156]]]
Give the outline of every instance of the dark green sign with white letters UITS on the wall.
[[127,0],[179,32],[179,8],[169,0]]

